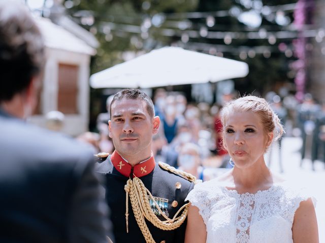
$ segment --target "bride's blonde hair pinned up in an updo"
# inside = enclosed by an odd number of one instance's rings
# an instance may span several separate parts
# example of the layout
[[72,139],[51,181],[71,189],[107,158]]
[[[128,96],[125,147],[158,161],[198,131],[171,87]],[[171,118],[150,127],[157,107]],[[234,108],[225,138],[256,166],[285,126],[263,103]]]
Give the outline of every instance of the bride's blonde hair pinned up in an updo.
[[[223,127],[230,114],[235,112],[253,112],[261,117],[265,133],[274,133],[273,141],[278,140],[284,133],[283,126],[277,114],[274,113],[269,103],[256,96],[244,96],[227,103],[220,112],[221,123]],[[224,140],[223,140],[224,141]]]

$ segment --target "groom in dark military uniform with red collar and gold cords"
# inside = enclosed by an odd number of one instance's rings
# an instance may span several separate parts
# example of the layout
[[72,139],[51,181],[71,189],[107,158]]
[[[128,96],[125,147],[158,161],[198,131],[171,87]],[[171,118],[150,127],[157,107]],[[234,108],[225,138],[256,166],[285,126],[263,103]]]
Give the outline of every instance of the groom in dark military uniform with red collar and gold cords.
[[96,171],[106,180],[115,242],[184,242],[184,199],[195,177],[155,161],[151,142],[160,119],[152,100],[140,90],[122,90],[115,94],[110,114],[115,151]]

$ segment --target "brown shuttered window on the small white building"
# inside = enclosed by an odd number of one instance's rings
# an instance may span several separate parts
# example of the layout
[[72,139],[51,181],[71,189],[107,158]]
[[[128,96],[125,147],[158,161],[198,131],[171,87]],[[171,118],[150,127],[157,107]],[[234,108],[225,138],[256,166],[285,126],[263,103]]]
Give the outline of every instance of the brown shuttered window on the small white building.
[[57,110],[64,114],[78,113],[78,71],[77,65],[59,64]]

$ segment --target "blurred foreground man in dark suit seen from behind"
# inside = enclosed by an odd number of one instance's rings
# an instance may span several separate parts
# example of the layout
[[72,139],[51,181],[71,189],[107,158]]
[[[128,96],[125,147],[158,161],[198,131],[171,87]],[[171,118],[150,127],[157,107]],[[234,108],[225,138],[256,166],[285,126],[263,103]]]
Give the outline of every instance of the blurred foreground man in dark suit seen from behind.
[[27,125],[44,43],[28,10],[0,0],[0,242],[107,242],[92,151]]

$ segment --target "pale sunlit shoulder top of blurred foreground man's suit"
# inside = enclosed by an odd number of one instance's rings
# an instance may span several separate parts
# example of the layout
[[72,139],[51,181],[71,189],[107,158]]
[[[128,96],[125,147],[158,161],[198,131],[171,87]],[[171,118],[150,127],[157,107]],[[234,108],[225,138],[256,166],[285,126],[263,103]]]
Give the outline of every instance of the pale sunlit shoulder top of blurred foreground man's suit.
[[19,156],[25,161],[34,160],[43,163],[64,161],[67,164],[70,162],[75,164],[93,160],[93,150],[73,138],[26,124],[15,118],[3,121],[1,120],[0,128],[3,155]]

